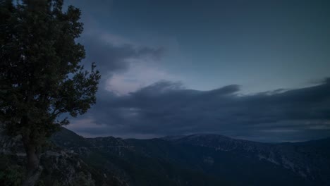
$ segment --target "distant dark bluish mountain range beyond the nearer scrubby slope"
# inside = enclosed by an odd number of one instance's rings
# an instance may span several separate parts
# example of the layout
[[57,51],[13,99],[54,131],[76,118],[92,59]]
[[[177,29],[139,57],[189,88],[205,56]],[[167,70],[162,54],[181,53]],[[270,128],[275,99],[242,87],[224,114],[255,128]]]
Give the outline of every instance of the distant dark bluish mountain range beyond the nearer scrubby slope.
[[[221,135],[151,140],[54,136],[131,185],[329,185],[329,139],[266,144]],[[70,140],[74,139],[74,140]],[[106,162],[106,163],[105,163]],[[197,175],[197,176],[196,176]],[[271,180],[271,182],[269,181]]]

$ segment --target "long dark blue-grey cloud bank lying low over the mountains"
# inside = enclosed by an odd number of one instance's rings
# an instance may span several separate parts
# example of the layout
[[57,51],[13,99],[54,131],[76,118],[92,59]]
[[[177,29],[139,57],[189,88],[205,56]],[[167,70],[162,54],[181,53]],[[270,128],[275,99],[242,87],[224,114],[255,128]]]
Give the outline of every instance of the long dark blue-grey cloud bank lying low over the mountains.
[[197,91],[162,81],[126,96],[103,97],[90,117],[95,125],[109,128],[96,128],[93,135],[211,132],[267,141],[330,135],[330,79],[314,87],[254,95],[241,95],[239,90],[238,85],[228,85]]

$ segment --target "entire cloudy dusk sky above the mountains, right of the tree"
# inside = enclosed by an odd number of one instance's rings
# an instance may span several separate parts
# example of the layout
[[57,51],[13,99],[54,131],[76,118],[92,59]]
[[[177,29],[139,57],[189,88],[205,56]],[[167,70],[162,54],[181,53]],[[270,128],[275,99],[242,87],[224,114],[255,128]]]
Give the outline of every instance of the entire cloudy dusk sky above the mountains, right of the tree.
[[259,142],[330,137],[330,1],[67,0],[97,104],[85,137],[215,133]]

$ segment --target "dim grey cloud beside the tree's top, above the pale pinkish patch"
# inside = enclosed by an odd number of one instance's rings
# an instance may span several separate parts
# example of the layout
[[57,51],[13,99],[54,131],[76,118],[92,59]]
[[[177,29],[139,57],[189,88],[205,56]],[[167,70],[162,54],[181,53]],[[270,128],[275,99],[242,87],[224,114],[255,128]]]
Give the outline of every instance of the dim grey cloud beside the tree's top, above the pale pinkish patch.
[[158,60],[164,49],[133,43],[119,35],[113,35],[106,26],[114,2],[99,0],[91,3],[88,0],[65,1],[66,6],[73,4],[82,10],[81,22],[84,32],[78,39],[85,46],[87,63],[94,61],[98,70],[105,76],[107,73],[127,70],[129,59],[152,58]]

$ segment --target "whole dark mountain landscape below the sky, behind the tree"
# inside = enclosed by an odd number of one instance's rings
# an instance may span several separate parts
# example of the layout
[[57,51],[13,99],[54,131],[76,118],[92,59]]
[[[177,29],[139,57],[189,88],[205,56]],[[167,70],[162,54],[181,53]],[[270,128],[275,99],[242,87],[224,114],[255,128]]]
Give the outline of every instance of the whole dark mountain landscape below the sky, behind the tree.
[[[1,162],[23,166],[24,159],[18,139],[0,135],[0,142],[1,180]],[[330,138],[279,144],[206,134],[123,140],[85,138],[63,128],[51,137],[42,158],[42,181],[74,185],[82,177],[90,185],[330,185],[329,147]]]

